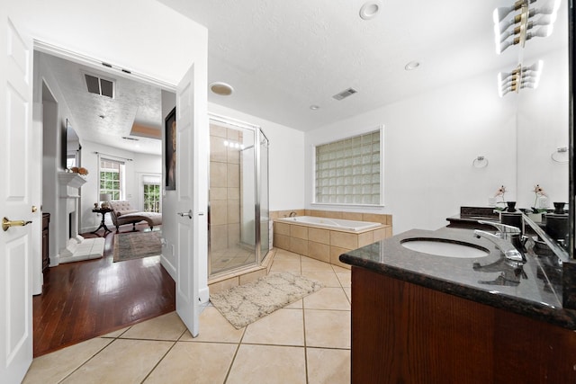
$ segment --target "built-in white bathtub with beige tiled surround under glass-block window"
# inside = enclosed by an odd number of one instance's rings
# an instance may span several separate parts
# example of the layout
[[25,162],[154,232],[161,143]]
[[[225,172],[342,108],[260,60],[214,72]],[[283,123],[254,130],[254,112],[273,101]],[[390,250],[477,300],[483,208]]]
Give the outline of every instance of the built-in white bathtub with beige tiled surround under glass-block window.
[[[362,214],[355,216],[361,218]],[[377,219],[376,215],[366,216]],[[274,247],[350,269],[340,263],[340,255],[392,237],[392,224],[387,224],[392,219],[380,216],[382,222],[318,216],[278,218],[274,220]]]

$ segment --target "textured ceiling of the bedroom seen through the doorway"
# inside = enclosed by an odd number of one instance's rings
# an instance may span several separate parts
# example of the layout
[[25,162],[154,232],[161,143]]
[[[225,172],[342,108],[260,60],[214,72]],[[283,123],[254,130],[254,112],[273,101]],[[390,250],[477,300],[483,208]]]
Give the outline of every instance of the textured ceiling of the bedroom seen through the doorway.
[[[42,65],[46,65],[56,77],[58,86],[65,95],[65,102],[74,121],[73,128],[82,140],[132,152],[162,154],[161,141],[149,138],[154,136],[153,134],[143,136],[137,131],[130,133],[132,126],[136,124],[153,129],[152,132],[156,131],[157,137],[162,137],[161,127],[164,119],[159,88],[84,67],[63,58],[44,53],[40,55]],[[88,93],[85,84],[86,73],[114,80],[116,83],[114,98]]]

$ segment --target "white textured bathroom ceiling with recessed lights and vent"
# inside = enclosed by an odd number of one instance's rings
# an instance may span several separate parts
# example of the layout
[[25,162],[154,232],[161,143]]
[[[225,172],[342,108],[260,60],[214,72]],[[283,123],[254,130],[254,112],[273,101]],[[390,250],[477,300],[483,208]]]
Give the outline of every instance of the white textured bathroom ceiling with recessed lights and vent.
[[[209,93],[209,101],[294,129],[319,128],[487,71],[496,94],[497,73],[518,64],[518,47],[499,56],[493,37],[494,8],[513,0],[384,0],[370,21],[359,17],[359,0],[158,1],[208,28],[208,82],[235,89],[228,97]],[[552,38],[527,45],[547,50]],[[421,65],[408,72],[412,60]],[[348,87],[358,93],[332,98]]]

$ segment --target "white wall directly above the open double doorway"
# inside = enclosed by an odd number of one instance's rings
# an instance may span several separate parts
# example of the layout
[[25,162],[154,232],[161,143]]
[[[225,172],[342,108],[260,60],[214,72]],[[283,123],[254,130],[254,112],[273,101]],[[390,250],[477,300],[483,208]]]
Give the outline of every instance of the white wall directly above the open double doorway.
[[14,8],[36,40],[170,85],[205,46],[204,27],[156,0],[23,0]]

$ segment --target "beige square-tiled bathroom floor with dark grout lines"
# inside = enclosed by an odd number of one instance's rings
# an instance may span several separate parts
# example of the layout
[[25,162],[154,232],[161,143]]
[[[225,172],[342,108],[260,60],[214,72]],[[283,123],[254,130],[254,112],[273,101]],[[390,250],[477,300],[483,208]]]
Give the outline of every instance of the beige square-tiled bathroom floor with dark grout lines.
[[350,271],[278,250],[271,273],[324,288],[235,329],[213,307],[193,338],[175,312],[34,359],[24,383],[349,383]]

